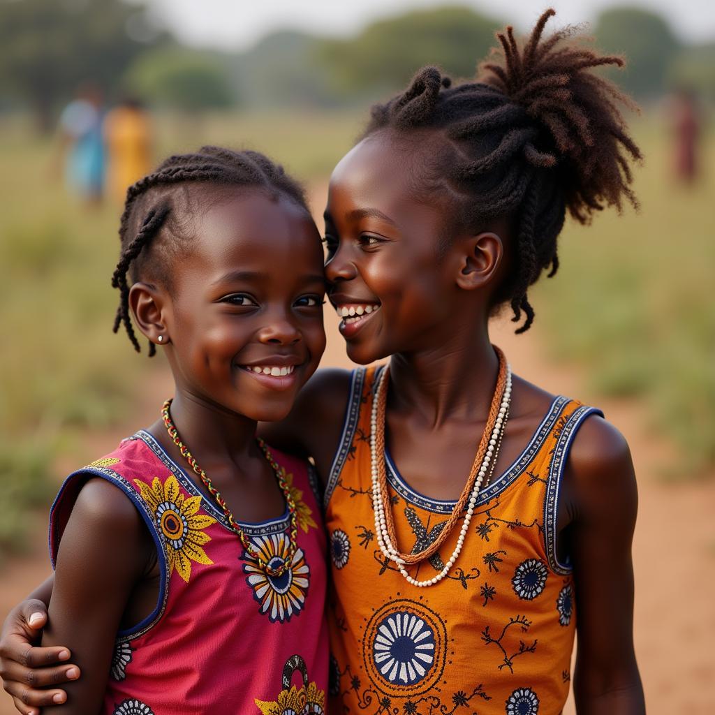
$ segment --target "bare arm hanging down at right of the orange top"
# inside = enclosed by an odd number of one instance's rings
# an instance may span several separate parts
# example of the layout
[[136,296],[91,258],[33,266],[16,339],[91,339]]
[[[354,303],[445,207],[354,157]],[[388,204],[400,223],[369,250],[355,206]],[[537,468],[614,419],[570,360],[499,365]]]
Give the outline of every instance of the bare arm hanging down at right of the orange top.
[[638,493],[623,435],[601,418],[583,423],[566,465],[576,581],[579,715],[644,715],[633,649],[631,541]]

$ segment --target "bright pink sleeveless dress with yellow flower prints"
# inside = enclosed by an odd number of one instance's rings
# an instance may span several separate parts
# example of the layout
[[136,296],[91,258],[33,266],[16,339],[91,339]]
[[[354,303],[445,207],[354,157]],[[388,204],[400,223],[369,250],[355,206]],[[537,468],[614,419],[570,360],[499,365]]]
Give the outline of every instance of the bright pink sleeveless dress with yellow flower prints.
[[[71,474],[54,502],[50,551],[82,485],[111,482],[152,534],[161,571],[154,611],[117,633],[105,715],[320,714],[326,711],[327,548],[315,480],[305,463],[276,450],[298,509],[297,551],[268,576],[217,507],[147,432]],[[286,513],[245,524],[271,566],[285,563]]]

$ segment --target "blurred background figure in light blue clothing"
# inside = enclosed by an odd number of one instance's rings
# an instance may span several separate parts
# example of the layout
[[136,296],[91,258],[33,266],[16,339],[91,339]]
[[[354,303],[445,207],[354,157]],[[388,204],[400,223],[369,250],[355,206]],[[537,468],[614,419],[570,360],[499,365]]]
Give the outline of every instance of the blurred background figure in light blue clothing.
[[69,190],[88,204],[102,200],[104,140],[102,90],[83,84],[59,117],[59,153]]

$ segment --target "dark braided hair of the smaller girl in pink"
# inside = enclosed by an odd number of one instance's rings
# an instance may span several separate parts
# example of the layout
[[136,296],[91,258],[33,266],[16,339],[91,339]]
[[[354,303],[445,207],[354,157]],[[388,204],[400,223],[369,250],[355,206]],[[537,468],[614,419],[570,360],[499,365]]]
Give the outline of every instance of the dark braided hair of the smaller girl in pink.
[[[194,184],[257,188],[268,192],[271,197],[288,197],[310,214],[300,184],[289,177],[281,166],[259,152],[202,147],[193,154],[174,154],[164,160],[154,173],[132,184],[127,189],[124,213],[119,222],[122,249],[112,275],[112,287],[119,289],[119,307],[113,330],[117,332],[119,326],[124,325],[137,352],[141,348],[129,310],[130,283],[127,273],[132,283],[139,280],[140,274],[148,273],[170,284],[166,255],[163,260],[156,255],[157,244],[161,237],[161,248],[169,255],[175,255],[180,250],[179,244],[187,240],[187,217],[182,217],[177,211],[181,198],[177,194],[182,187],[186,204],[188,198],[185,192]],[[149,342],[149,357],[155,353],[154,343]]]

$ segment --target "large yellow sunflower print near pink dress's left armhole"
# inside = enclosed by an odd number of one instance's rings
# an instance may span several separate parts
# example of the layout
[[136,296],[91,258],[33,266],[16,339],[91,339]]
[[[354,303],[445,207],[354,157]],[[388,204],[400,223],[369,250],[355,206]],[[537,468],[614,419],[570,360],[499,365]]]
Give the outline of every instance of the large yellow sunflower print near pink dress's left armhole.
[[162,484],[154,477],[149,486],[141,479],[135,479],[142,499],[147,503],[157,520],[159,529],[167,541],[167,561],[169,576],[177,570],[179,576],[189,583],[191,562],[212,564],[202,548],[211,537],[202,530],[216,523],[215,518],[198,513],[200,496],[184,497],[174,475]]

